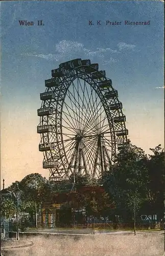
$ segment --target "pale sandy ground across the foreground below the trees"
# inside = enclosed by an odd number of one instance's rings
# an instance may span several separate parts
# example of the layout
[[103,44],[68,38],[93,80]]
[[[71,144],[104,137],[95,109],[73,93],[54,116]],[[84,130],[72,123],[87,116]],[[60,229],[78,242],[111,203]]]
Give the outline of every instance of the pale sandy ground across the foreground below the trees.
[[[84,229],[85,230],[85,229]],[[37,230],[36,230],[37,231]],[[34,236],[20,238],[32,241],[27,248],[8,249],[3,255],[15,256],[162,256],[164,255],[164,231],[140,232],[134,236],[132,231],[116,231],[99,234],[84,234],[75,240],[75,236],[57,236],[44,230]],[[87,231],[87,230],[86,230]],[[90,230],[91,231],[91,230]],[[70,230],[68,230],[70,232]],[[79,232],[79,231],[77,231]],[[66,230],[65,230],[66,233]]]

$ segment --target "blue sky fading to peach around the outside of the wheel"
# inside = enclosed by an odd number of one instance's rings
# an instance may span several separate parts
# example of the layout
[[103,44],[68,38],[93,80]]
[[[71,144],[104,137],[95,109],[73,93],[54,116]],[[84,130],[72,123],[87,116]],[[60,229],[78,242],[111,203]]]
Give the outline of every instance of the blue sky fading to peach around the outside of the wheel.
[[2,179],[49,177],[38,151],[39,94],[51,70],[75,58],[99,63],[112,80],[132,144],[146,154],[164,147],[163,39],[163,2],[1,2],[1,187]]

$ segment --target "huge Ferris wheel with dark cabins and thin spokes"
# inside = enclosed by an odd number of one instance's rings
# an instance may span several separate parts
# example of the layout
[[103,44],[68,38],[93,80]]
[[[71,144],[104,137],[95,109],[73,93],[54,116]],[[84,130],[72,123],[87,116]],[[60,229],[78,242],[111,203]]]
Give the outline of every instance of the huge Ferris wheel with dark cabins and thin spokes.
[[99,178],[127,144],[126,116],[111,79],[98,63],[74,59],[52,70],[45,87],[37,133],[49,179],[75,173]]

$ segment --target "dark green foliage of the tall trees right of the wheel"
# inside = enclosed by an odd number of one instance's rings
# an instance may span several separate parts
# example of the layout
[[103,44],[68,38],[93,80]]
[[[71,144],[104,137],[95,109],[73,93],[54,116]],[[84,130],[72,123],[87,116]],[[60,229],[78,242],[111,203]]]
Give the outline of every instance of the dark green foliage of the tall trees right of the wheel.
[[130,143],[120,151],[113,168],[104,174],[102,181],[115,202],[116,214],[131,216],[134,207],[138,211],[149,201],[155,213],[158,204],[162,206],[164,153],[160,145],[151,151],[154,155],[148,157],[142,148]]

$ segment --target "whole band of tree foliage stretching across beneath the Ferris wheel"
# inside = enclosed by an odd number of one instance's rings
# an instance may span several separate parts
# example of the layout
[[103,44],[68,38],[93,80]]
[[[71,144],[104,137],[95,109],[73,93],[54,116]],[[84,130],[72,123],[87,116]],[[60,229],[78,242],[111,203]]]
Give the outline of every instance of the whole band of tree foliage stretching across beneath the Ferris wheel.
[[[132,218],[134,207],[143,214],[148,210],[162,216],[164,192],[164,151],[161,145],[150,148],[152,154],[147,156],[142,148],[129,143],[117,155],[117,161],[104,173],[100,180],[88,175],[75,174],[69,180],[54,182],[46,180],[40,174],[27,175],[20,182],[22,190],[19,208],[22,211],[34,212],[41,202],[52,202],[54,194],[59,191],[74,191],[79,205],[85,206],[88,215],[107,216],[123,215]],[[89,189],[81,193],[81,187],[99,187],[105,191]],[[8,190],[13,191],[16,182]],[[80,190],[80,191],[79,191]],[[2,200],[3,213],[8,209],[14,212],[16,201],[14,197]]]

